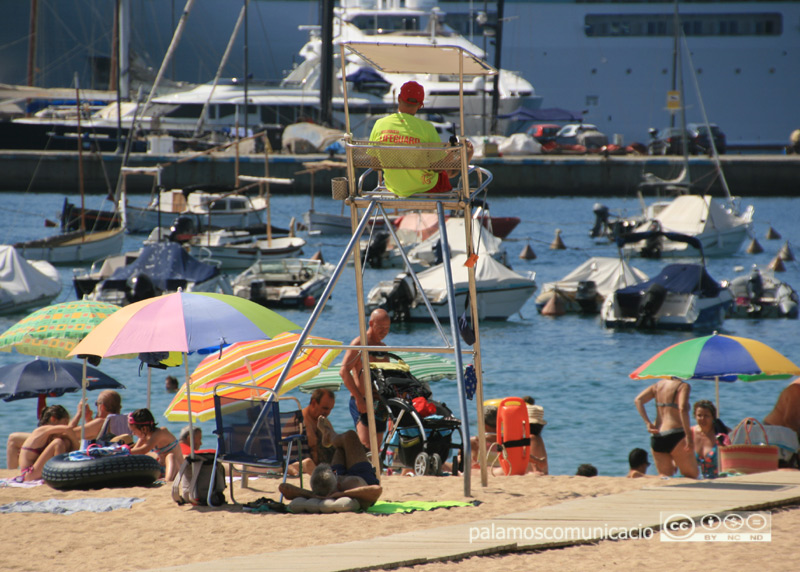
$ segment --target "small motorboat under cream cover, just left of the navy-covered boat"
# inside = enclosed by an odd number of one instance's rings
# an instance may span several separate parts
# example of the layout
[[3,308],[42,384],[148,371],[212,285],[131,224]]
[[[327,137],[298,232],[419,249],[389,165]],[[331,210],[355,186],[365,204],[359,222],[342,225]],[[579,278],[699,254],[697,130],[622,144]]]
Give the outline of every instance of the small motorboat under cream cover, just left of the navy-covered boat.
[[544,284],[536,297],[536,309],[541,313],[557,296],[566,313],[597,314],[603,301],[616,290],[647,279],[647,274],[624,258],[594,256],[561,280]]

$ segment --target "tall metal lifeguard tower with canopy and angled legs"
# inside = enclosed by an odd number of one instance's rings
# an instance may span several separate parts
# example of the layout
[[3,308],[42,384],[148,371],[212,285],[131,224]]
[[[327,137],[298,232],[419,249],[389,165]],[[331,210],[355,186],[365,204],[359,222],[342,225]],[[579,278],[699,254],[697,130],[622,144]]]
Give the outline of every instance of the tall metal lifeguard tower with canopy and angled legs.
[[[303,329],[300,339],[291,354],[284,373],[276,384],[276,390],[280,391],[284,377],[296,355],[302,351],[306,337],[319,318],[325,304],[335,288],[336,282],[342,271],[347,266],[350,257],[353,257],[356,278],[356,296],[358,308],[359,331],[361,334],[361,344],[356,346],[336,346],[344,350],[357,349],[361,351],[363,360],[363,371],[369,372],[369,352],[370,351],[405,351],[451,354],[456,362],[458,372],[459,408],[461,417],[461,432],[463,443],[463,467],[464,467],[464,494],[470,495],[470,474],[471,474],[471,453],[469,436],[469,412],[467,409],[467,398],[465,391],[465,366],[464,357],[471,358],[476,375],[475,403],[477,404],[476,414],[478,422],[479,455],[481,459],[481,482],[483,486],[487,484],[487,470],[485,462],[485,430],[483,421],[483,387],[481,379],[481,354],[480,354],[480,333],[478,327],[478,303],[479,298],[475,288],[474,262],[477,256],[474,252],[474,242],[472,237],[471,216],[472,201],[482,193],[491,182],[492,176],[487,170],[480,167],[470,166],[467,162],[466,139],[463,133],[464,125],[464,77],[484,77],[493,75],[494,68],[486,64],[477,56],[456,46],[432,46],[432,45],[407,45],[407,44],[385,44],[385,43],[343,43],[340,46],[341,60],[347,61],[348,56],[356,55],[362,58],[372,67],[385,73],[413,73],[413,74],[447,74],[458,75],[459,77],[459,103],[460,103],[460,137],[457,143],[424,144],[424,145],[392,145],[387,143],[376,143],[370,141],[356,140],[352,136],[350,127],[350,114],[348,111],[347,81],[345,79],[344,66],[342,66],[342,84],[345,103],[345,122],[347,132],[344,144],[347,152],[347,177],[334,179],[332,183],[333,198],[344,201],[350,207],[350,218],[352,226],[352,236],[342,253],[333,276],[320,296],[317,306],[314,308],[308,322]],[[380,173],[386,169],[428,169],[428,170],[458,170],[461,176],[458,185],[452,191],[437,194],[417,194],[410,197],[398,197],[389,191],[383,184]],[[376,173],[377,172],[377,177]],[[370,188],[367,181],[377,178],[377,184]],[[475,188],[471,188],[474,184]],[[475,342],[472,347],[464,347],[460,337],[458,318],[459,313],[456,308],[456,297],[453,287],[453,272],[450,264],[443,264],[445,274],[445,284],[448,294],[449,307],[449,335],[446,329],[437,319],[430,301],[424,296],[425,305],[430,312],[431,319],[438,330],[442,340],[441,345],[437,346],[368,346],[367,325],[368,317],[365,311],[364,284],[362,279],[362,261],[359,253],[359,241],[367,227],[368,222],[374,216],[383,217],[386,221],[386,229],[391,234],[395,243],[399,246],[400,240],[394,232],[392,224],[389,222],[387,209],[397,211],[427,211],[435,212],[439,219],[439,230],[442,235],[442,257],[443,260],[450,260],[450,248],[447,240],[447,230],[445,225],[445,211],[459,213],[465,219],[465,232],[467,244],[467,264],[469,274],[469,312],[472,316],[472,325],[475,332]],[[406,271],[414,280],[417,289],[423,289],[409,263],[406,253],[400,248],[401,256],[405,262]],[[354,255],[355,254],[355,255]],[[319,347],[319,346],[317,346]],[[372,383],[366,384],[367,412],[369,419],[370,449],[379,450],[375,433],[375,418],[373,409]],[[380,474],[379,456],[373,455],[372,462],[376,473]]]

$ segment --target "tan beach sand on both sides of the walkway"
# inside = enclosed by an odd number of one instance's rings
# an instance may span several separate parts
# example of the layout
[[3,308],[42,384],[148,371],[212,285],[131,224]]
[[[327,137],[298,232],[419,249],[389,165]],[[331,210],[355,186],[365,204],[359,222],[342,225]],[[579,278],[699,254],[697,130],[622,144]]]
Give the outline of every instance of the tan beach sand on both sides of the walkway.
[[[0,470],[0,478],[15,475]],[[235,484],[236,500],[277,499],[277,479],[251,480],[249,489]],[[296,482],[296,480],[295,480]],[[490,477],[482,488],[473,478],[477,507],[453,508],[403,515],[370,514],[282,515],[248,513],[227,504],[219,509],[178,506],[171,487],[135,487],[94,491],[57,491],[47,485],[0,488],[0,505],[14,501],[136,497],[130,509],[72,515],[3,514],[0,516],[0,568],[9,571],[57,569],[142,570],[215,560],[228,554],[249,555],[330,543],[368,539],[395,532],[487,519],[580,497],[610,495],[658,479],[621,477],[524,476]],[[675,482],[672,480],[670,482]],[[463,480],[454,477],[384,477],[384,500],[465,500]],[[230,496],[227,495],[230,501]],[[770,543],[664,543],[650,540],[602,541],[592,545],[473,557],[451,563],[413,567],[415,572],[485,572],[486,570],[631,570],[739,569],[743,562],[764,570],[796,569],[796,531],[800,510],[774,510]],[[322,548],[324,550],[324,548]],[[403,568],[401,570],[410,570]]]

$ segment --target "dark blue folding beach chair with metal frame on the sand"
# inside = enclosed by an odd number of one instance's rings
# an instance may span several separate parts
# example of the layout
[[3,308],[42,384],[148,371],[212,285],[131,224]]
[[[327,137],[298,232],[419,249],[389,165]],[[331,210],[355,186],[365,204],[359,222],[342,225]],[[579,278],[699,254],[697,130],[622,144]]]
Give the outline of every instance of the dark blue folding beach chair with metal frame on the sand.
[[[281,411],[280,406],[287,403],[295,407]],[[228,464],[231,502],[236,503],[234,465],[246,487],[249,475],[265,476],[276,469],[281,471],[282,482],[286,482],[289,465],[302,460],[307,439],[296,397],[277,397],[269,388],[220,383],[214,388],[214,414],[215,461]],[[216,471],[216,462],[214,467]],[[302,467],[299,472],[302,487]],[[214,475],[212,481],[213,478]]]

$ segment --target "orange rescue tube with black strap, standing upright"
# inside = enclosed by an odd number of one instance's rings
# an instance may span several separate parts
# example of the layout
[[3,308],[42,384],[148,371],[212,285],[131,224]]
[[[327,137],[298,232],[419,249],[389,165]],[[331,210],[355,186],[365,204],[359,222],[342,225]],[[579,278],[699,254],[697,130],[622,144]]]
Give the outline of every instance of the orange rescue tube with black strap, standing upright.
[[506,397],[497,408],[497,444],[505,475],[524,475],[530,460],[531,431],[528,404],[520,397]]

